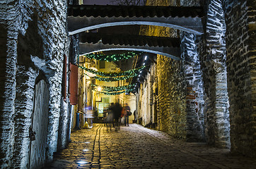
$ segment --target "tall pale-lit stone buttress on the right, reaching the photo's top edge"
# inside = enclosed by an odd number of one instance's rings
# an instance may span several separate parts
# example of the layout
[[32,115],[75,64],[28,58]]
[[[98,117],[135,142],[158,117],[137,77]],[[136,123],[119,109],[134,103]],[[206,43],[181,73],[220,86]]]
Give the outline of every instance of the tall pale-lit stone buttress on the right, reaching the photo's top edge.
[[207,1],[204,8],[205,32],[199,51],[204,77],[206,142],[228,148],[230,125],[226,80],[226,24],[221,0]]

